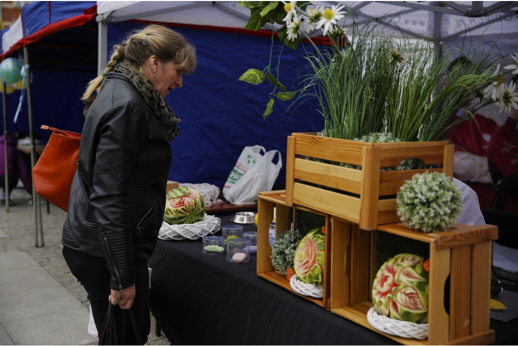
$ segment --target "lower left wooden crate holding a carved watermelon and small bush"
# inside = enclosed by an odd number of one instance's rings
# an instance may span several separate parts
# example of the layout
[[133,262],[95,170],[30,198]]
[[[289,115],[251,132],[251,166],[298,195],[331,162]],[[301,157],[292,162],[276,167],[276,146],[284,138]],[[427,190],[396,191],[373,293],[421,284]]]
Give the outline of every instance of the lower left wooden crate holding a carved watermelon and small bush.
[[[330,280],[330,253],[331,253],[331,227],[329,216],[315,210],[295,206],[290,207],[286,205],[285,190],[259,192],[258,206],[257,206],[257,276],[273,282],[280,287],[291,291],[311,302],[329,310],[329,280]],[[274,207],[276,208],[276,237],[291,229],[291,222],[293,220],[293,227],[297,229],[296,220],[294,218],[294,209],[305,210],[306,212],[319,214],[326,217],[325,220],[325,258],[324,258],[324,296],[322,298],[313,298],[301,295],[293,291],[290,282],[282,275],[274,270],[271,264],[271,246],[269,243],[269,229],[272,220],[274,219]]]

